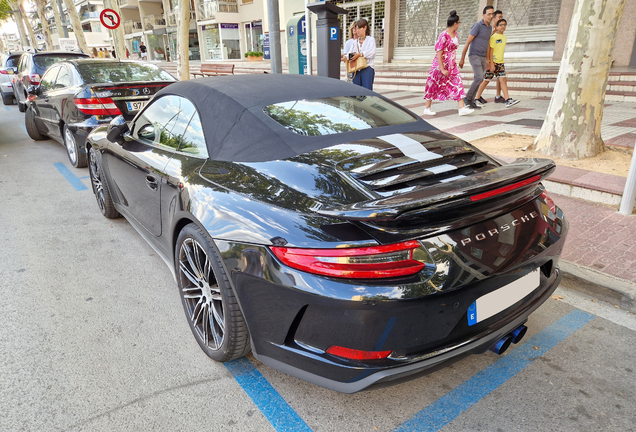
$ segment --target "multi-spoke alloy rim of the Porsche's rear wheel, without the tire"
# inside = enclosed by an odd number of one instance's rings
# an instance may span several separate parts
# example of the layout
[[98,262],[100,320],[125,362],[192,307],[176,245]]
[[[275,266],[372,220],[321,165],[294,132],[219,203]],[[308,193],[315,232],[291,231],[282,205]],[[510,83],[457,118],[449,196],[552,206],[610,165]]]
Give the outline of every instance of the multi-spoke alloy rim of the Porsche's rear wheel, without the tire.
[[205,346],[217,351],[225,338],[225,315],[210,256],[197,240],[188,237],[179,248],[178,265],[192,328]]

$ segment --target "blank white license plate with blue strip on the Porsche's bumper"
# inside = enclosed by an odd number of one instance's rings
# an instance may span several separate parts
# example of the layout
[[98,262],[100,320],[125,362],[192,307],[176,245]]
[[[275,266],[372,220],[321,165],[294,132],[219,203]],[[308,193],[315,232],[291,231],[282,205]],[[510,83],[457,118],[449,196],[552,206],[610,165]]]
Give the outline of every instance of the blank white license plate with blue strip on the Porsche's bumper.
[[498,290],[479,297],[468,308],[468,325],[475,325],[509,308],[539,287],[541,276],[536,269]]

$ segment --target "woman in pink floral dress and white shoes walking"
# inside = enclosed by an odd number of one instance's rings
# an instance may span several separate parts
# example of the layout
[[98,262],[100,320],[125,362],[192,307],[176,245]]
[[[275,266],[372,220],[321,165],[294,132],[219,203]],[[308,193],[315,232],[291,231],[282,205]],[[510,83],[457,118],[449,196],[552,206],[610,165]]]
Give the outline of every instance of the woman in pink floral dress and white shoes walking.
[[436,55],[424,88],[424,99],[426,100],[424,115],[435,115],[435,111],[431,109],[433,99],[457,101],[459,115],[473,112],[471,108],[464,106],[464,84],[455,61],[455,52],[459,46],[458,27],[459,16],[457,12],[451,11],[446,21],[446,30],[439,35],[439,40],[435,44]]

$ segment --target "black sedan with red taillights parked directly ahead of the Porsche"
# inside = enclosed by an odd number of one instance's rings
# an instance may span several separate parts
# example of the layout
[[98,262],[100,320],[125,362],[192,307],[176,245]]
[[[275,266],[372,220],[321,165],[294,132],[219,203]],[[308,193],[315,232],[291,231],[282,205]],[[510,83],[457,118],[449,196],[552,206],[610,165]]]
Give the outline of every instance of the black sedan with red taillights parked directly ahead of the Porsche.
[[175,78],[160,67],[133,60],[76,59],[59,62],[29,88],[24,118],[34,140],[51,137],[66,147],[75,167],[86,166],[86,137],[123,115],[132,120],[150,98]]

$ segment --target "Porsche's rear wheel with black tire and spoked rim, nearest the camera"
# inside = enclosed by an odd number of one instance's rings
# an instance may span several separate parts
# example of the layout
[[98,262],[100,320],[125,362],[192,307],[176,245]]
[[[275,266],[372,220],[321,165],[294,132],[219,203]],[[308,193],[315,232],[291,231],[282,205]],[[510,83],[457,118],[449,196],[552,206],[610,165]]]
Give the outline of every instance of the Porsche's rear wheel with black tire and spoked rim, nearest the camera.
[[218,362],[248,354],[247,326],[219,253],[195,224],[179,233],[175,270],[183,309],[201,349]]

